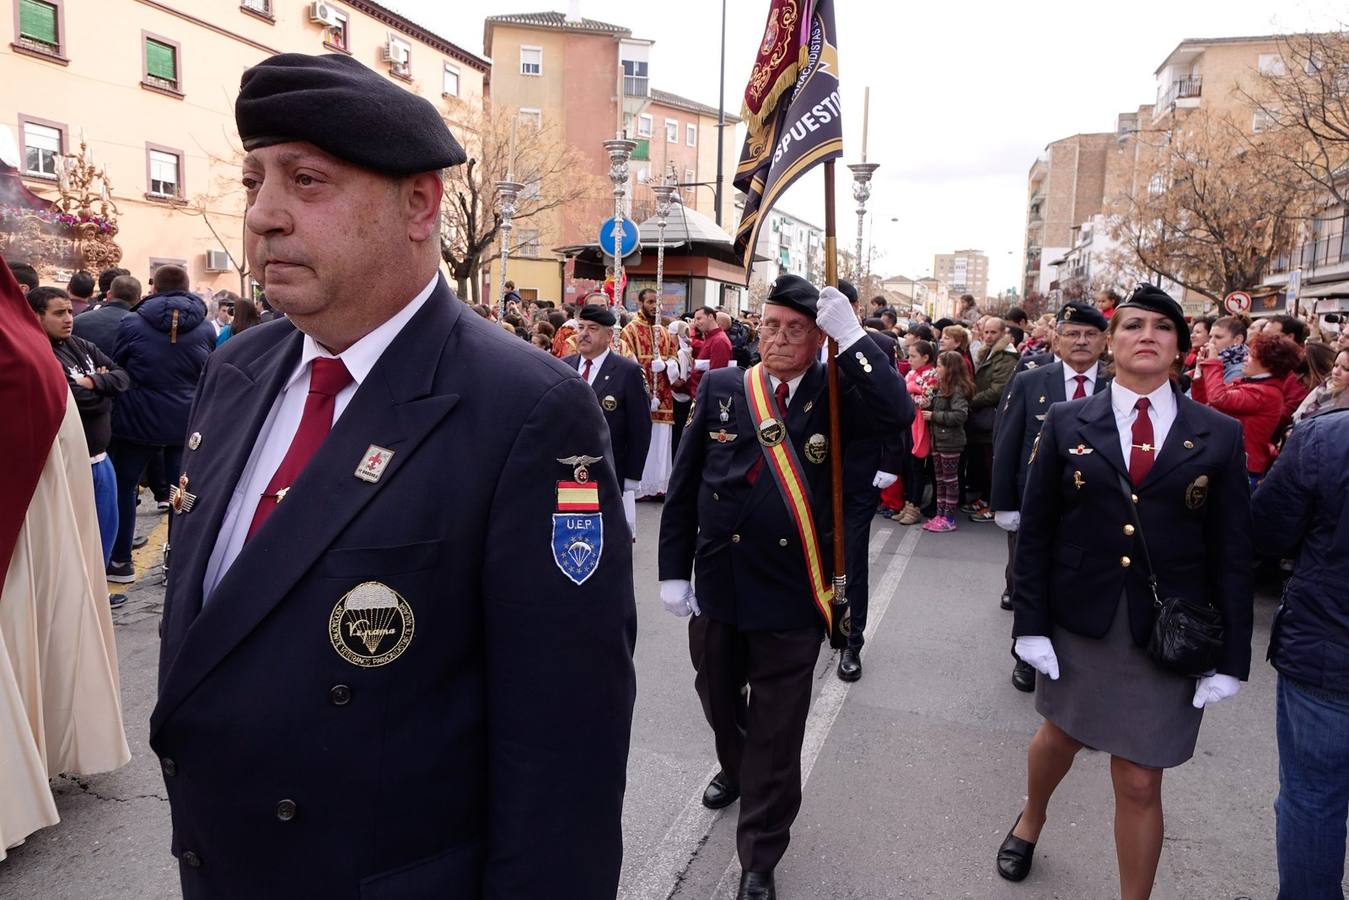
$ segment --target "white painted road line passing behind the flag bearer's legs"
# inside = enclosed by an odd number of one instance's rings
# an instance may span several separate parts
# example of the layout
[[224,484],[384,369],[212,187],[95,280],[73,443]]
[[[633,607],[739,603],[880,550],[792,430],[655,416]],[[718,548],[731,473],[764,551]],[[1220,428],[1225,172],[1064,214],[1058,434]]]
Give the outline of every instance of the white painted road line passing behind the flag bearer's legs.
[[[867,555],[871,565],[876,565],[877,559],[881,556],[881,551],[885,548],[886,542],[889,542],[892,534],[892,529],[877,529],[871,534],[871,542],[867,545]],[[867,622],[867,634],[876,633],[876,627],[885,615],[885,609],[890,603],[889,595],[894,592],[900,576],[904,573],[904,567],[908,565],[908,557],[913,552],[913,544],[917,542],[917,534],[919,529],[916,528],[911,529],[909,533],[905,534],[904,540],[900,542],[898,556],[890,561],[885,569],[885,575],[873,590],[873,596],[877,598],[877,603],[874,603],[869,611],[870,621]],[[900,559],[904,561],[898,567],[898,572],[893,573],[896,563]],[[836,700],[826,699],[832,696],[832,685],[844,688]],[[819,756],[820,746],[828,735],[828,729],[832,727],[834,719],[838,718],[838,708],[834,708],[832,712],[828,714],[828,721],[823,725],[823,730],[820,730],[820,726],[816,723],[820,708],[826,703],[836,703],[840,707],[843,698],[847,696],[846,688],[847,685],[843,681],[830,679],[815,702],[815,710],[812,710],[811,718],[807,721],[805,745],[801,750],[803,787],[805,779],[809,777],[811,766],[815,765],[815,758]],[[815,731],[819,731],[817,737],[813,737]],[[720,766],[714,762],[707,770],[707,775],[699,781],[699,785],[706,785],[719,770]],[[693,855],[697,853],[699,847],[701,847],[703,842],[707,841],[708,835],[712,833],[712,824],[720,815],[722,811],[708,810],[703,806],[703,788],[699,787],[697,793],[693,795],[687,804],[684,804],[679,816],[676,816],[669,830],[666,830],[660,845],[657,845],[656,849],[648,854],[646,866],[629,882],[625,882],[619,888],[618,900],[652,900],[653,897],[668,899],[673,896],[679,891],[684,873],[692,862]],[[731,866],[737,869],[735,880],[738,881],[738,866],[735,862],[733,862]],[[730,873],[730,869],[727,873]],[[723,877],[722,881],[726,881],[726,877]],[[718,891],[720,892],[720,887]]]

